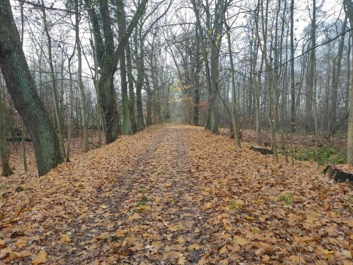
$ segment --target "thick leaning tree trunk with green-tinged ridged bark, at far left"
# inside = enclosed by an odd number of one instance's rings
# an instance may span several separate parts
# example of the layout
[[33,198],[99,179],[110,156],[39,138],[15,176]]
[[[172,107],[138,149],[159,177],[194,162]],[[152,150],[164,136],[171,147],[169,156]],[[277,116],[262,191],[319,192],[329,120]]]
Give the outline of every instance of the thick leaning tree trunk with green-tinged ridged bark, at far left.
[[[35,89],[9,0],[0,0],[0,25],[0,68],[14,107],[31,135],[38,174],[42,176],[62,162],[60,144],[49,113]],[[16,43],[18,45],[14,45]]]

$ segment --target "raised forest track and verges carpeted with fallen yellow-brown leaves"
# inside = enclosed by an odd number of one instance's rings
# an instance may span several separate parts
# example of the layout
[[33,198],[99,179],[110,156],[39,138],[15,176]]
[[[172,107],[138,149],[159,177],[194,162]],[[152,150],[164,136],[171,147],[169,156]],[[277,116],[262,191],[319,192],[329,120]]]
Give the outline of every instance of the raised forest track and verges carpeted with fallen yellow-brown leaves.
[[2,177],[0,264],[352,264],[353,188],[242,144],[157,125]]

